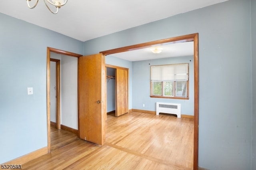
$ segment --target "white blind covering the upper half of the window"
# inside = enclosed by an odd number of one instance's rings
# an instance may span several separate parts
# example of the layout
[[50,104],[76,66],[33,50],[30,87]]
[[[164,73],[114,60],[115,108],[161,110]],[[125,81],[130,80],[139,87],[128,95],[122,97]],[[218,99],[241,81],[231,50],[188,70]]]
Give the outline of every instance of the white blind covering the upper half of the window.
[[151,81],[188,81],[188,63],[150,66]]

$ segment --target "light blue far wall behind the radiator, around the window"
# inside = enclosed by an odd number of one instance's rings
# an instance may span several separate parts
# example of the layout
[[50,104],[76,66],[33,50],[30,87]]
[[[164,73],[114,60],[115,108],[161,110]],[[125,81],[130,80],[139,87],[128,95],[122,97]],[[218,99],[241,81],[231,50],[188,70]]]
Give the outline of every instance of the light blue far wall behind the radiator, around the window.
[[[151,98],[150,66],[178,63],[189,63],[189,100]],[[132,80],[132,109],[156,111],[156,102],[180,103],[182,115],[194,115],[194,56],[135,61]]]

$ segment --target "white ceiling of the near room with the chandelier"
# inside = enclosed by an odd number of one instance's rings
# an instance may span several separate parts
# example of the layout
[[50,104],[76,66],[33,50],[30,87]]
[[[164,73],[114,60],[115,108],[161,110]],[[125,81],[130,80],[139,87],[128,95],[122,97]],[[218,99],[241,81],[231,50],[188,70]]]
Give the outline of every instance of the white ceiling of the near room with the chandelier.
[[34,9],[26,0],[0,0],[0,12],[84,42],[223,1],[68,0],[58,14],[52,14],[43,0]]

